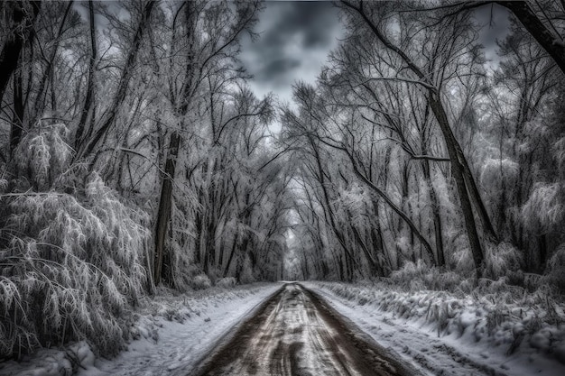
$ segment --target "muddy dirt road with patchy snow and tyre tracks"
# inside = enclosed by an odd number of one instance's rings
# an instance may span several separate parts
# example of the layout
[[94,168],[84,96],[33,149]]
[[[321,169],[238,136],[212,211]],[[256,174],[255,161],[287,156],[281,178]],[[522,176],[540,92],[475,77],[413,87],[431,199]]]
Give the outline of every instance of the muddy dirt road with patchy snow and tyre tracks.
[[414,375],[324,301],[289,283],[199,366],[198,375]]

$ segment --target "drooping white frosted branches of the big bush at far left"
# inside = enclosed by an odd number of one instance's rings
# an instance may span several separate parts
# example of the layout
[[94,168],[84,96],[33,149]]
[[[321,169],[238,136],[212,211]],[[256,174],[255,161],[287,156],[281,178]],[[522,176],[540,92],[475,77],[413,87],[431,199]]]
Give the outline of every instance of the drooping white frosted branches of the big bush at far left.
[[27,133],[15,193],[0,199],[0,357],[81,339],[116,353],[128,333],[118,317],[144,294],[148,216],[96,173],[76,179],[66,133]]

